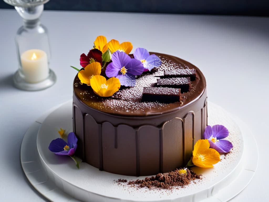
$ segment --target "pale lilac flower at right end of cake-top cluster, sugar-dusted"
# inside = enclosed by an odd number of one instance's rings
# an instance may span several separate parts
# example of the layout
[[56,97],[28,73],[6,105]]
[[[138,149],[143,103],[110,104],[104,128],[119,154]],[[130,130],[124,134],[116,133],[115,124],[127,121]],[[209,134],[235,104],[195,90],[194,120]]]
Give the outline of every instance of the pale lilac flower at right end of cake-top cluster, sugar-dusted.
[[136,48],[134,51],[134,58],[143,63],[144,72],[148,70],[151,71],[154,67],[160,67],[162,64],[161,59],[157,55],[150,55],[145,48]]

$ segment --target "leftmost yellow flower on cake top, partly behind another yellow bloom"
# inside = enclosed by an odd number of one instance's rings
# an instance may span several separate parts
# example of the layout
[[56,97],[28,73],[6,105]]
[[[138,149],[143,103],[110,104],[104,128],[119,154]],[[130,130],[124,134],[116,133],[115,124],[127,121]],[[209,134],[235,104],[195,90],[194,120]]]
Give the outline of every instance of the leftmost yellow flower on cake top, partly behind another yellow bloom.
[[92,62],[88,64],[84,69],[80,70],[77,76],[79,77],[80,83],[86,83],[90,86],[91,78],[95,75],[101,74],[101,65],[100,62]]

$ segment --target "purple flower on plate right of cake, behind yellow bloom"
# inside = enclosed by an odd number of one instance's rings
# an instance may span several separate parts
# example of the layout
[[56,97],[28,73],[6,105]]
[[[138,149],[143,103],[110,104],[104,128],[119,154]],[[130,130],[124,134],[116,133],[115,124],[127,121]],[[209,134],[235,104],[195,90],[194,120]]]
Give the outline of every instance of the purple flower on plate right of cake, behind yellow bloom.
[[222,140],[225,137],[228,137],[229,131],[222,125],[215,125],[213,127],[207,126],[204,130],[203,138],[207,139],[210,148],[217,150],[218,152],[229,152],[233,145],[228,140]]

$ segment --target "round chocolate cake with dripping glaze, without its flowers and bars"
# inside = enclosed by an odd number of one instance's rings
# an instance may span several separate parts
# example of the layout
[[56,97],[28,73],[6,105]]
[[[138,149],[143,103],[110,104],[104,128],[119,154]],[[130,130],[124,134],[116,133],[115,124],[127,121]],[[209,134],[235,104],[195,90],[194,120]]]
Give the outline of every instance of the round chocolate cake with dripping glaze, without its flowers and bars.
[[[185,60],[150,54],[161,58],[161,67],[144,72],[135,87],[121,87],[112,97],[97,96],[75,77],[73,130],[76,155],[83,162],[111,173],[141,176],[169,172],[189,161],[207,126],[206,80]],[[180,102],[141,101],[143,87],[156,86],[164,70],[179,68],[196,69],[196,79],[181,93]]]

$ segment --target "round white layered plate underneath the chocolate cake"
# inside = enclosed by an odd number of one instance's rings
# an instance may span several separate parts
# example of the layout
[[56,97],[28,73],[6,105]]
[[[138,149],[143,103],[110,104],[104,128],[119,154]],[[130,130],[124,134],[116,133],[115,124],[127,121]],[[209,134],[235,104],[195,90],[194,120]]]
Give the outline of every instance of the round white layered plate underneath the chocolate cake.
[[187,187],[172,191],[135,189],[115,180],[144,177],[99,171],[87,163],[80,163],[77,169],[70,157],[50,152],[48,145],[59,137],[58,128],[72,131],[72,100],[51,111],[33,123],[21,147],[27,179],[51,201],[228,201],[246,187],[257,168],[257,146],[248,127],[221,107],[208,103],[208,124],[228,128],[234,145],[232,152],[221,155],[221,162],[214,168],[193,167],[203,179]]

